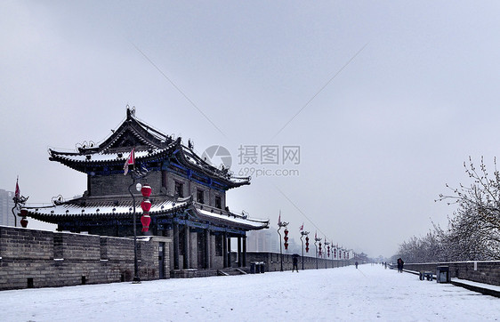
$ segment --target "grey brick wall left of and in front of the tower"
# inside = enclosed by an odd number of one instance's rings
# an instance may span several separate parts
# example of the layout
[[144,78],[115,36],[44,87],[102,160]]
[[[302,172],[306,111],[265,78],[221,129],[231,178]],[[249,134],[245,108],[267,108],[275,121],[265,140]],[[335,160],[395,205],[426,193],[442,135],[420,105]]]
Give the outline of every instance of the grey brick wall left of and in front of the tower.
[[[165,261],[158,261],[165,243]],[[138,238],[141,280],[170,277],[170,237]],[[133,239],[0,226],[0,290],[130,281]]]

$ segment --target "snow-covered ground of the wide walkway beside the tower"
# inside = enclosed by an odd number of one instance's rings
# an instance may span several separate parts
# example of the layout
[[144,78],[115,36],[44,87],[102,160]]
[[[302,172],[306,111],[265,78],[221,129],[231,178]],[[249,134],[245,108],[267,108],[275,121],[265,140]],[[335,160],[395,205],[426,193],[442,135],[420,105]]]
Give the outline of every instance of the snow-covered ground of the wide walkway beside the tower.
[[500,299],[361,265],[0,292],[1,321],[500,319]]

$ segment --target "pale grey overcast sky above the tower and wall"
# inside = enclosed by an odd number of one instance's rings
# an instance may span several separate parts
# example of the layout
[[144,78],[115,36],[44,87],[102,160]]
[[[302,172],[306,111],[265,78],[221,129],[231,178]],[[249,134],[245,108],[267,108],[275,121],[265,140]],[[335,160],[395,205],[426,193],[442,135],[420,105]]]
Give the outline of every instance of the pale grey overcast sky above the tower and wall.
[[[164,133],[266,170],[228,205],[391,256],[446,226],[435,203],[498,155],[496,1],[3,1],[0,189],[70,198],[85,174],[48,148],[99,143],[125,106]],[[297,114],[298,113],[298,114]],[[243,164],[278,147],[279,165]],[[298,164],[283,149],[299,147]],[[242,149],[239,149],[242,148]],[[269,161],[269,159],[267,159]],[[283,165],[282,161],[286,161]],[[297,160],[294,160],[297,161]],[[270,170],[270,171],[268,171]],[[30,227],[36,225],[30,224]]]

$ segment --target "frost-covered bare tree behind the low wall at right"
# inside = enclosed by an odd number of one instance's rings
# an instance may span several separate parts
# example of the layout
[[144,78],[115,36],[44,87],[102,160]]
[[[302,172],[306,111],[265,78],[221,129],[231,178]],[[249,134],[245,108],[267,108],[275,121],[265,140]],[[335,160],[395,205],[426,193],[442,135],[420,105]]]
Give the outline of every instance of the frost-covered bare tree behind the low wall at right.
[[[464,162],[465,173],[472,179],[469,186],[450,188],[439,201],[457,205],[448,216],[448,228],[434,229],[424,237],[411,237],[399,246],[399,256],[406,262],[450,262],[500,259],[500,173],[489,175],[481,157],[480,169]],[[438,201],[436,200],[436,201]]]

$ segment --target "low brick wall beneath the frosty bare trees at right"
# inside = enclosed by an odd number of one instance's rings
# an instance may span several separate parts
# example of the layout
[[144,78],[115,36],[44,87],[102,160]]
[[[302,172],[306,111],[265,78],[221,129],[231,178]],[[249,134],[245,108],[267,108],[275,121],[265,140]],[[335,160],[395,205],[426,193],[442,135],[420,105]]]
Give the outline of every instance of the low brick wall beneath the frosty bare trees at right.
[[438,266],[448,266],[451,278],[500,286],[500,261],[405,263],[405,270],[436,272]]

